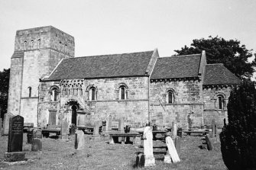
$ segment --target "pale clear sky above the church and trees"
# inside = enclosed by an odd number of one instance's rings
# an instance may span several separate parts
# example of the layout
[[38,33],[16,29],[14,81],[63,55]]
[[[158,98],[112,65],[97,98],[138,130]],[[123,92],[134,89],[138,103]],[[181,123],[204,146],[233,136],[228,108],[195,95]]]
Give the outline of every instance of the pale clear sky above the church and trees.
[[15,31],[52,25],[75,37],[75,56],[157,48],[160,56],[209,35],[256,50],[255,0],[0,0],[0,71]]

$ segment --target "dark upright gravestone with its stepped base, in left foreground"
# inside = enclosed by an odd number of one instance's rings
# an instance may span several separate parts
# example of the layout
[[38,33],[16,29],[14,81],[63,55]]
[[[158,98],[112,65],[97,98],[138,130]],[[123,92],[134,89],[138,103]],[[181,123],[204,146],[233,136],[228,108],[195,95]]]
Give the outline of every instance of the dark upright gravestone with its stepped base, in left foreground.
[[11,117],[9,120],[8,152],[5,160],[8,162],[24,161],[25,152],[22,152],[24,118]]

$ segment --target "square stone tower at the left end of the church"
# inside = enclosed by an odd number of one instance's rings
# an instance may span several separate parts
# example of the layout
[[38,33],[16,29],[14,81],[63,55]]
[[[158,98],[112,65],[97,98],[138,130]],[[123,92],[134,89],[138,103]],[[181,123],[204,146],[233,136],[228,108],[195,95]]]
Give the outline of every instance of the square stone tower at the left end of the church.
[[37,127],[39,79],[50,75],[61,59],[74,54],[74,37],[55,27],[17,30],[11,56],[8,112],[21,115],[25,123]]

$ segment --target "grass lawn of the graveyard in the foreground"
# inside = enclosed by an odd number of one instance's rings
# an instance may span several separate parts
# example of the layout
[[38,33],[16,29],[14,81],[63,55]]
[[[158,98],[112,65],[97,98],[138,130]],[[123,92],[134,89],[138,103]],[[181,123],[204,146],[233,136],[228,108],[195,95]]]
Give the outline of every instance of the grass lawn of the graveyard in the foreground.
[[[23,165],[6,165],[4,153],[7,152],[8,136],[0,137],[0,169],[132,169],[136,160],[136,152],[143,152],[131,144],[109,144],[109,138],[89,140],[86,135],[85,149],[74,149],[74,136],[63,142],[53,138],[43,138],[42,152],[31,152],[27,145],[27,133],[24,133],[23,150],[29,161]],[[214,142],[214,150],[200,149],[201,136],[183,136],[180,146],[181,162],[164,163],[164,155],[157,155],[156,165],[141,169],[226,169],[222,160],[219,140]],[[154,141],[155,142],[155,141]],[[159,142],[159,141],[158,141]]]

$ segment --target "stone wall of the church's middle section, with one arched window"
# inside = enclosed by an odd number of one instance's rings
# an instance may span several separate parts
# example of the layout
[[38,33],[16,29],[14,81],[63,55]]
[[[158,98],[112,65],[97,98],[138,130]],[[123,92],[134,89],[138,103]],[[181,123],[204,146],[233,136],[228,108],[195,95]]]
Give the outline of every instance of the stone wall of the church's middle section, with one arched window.
[[[167,104],[167,91],[174,91],[173,104]],[[199,79],[151,81],[151,122],[159,127],[170,127],[177,121],[179,127],[188,127],[188,116],[193,127],[203,126],[203,85]]]

